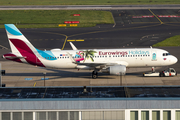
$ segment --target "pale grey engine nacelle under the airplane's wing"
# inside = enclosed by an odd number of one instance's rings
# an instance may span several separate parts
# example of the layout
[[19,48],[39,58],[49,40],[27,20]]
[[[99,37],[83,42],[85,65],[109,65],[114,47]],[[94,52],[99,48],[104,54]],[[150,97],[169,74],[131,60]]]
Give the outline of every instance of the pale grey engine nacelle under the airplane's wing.
[[102,69],[101,72],[109,73],[111,75],[125,75],[126,74],[126,66],[125,65],[110,66],[107,69]]

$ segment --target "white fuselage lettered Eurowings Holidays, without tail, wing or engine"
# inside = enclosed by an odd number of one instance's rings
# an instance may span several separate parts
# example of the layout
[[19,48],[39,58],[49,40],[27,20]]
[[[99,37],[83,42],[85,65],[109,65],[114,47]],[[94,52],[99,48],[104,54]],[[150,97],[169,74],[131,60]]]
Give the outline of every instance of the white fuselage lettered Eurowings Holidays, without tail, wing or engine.
[[[76,54],[83,53],[85,50],[51,50],[54,57],[39,57],[45,67],[50,68],[77,68],[67,52],[76,59]],[[87,51],[87,50],[86,50]],[[126,67],[156,67],[168,66],[177,62],[177,58],[169,55],[162,49],[156,48],[135,48],[135,49],[93,49],[96,53],[90,58],[89,56],[79,56],[84,58],[80,63],[117,63]],[[39,52],[39,54],[41,54]],[[92,61],[93,59],[93,61]]]

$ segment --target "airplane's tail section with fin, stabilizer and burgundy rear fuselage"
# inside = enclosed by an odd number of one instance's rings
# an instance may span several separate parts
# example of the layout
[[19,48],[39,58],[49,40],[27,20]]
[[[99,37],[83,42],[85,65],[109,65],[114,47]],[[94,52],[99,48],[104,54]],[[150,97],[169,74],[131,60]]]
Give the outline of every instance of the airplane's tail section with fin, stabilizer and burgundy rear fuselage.
[[44,67],[38,58],[38,49],[26,39],[14,24],[5,24],[5,29],[12,53],[4,55],[4,58]]

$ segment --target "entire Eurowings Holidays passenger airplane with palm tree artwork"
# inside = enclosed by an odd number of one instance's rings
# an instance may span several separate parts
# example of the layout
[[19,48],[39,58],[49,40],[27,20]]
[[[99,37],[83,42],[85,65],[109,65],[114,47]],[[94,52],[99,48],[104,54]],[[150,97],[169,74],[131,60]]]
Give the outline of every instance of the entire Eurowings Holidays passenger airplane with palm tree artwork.
[[78,50],[70,42],[72,50],[43,51],[36,49],[14,24],[5,24],[5,29],[12,52],[3,58],[45,68],[93,70],[94,79],[99,71],[125,75],[126,68],[169,66],[178,61],[168,51],[152,47]]

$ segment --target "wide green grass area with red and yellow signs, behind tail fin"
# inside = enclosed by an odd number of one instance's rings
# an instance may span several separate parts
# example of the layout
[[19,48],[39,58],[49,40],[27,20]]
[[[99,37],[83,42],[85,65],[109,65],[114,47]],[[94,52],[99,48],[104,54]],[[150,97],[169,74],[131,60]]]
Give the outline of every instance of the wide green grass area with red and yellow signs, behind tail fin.
[[[80,14],[80,16],[73,16]],[[0,28],[4,24],[16,24],[19,28],[58,27],[64,21],[80,21],[78,27],[96,24],[113,24],[109,11],[93,10],[5,10],[0,11]],[[69,27],[69,25],[67,25]]]

